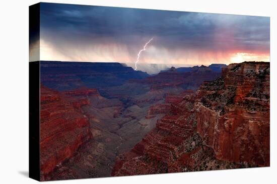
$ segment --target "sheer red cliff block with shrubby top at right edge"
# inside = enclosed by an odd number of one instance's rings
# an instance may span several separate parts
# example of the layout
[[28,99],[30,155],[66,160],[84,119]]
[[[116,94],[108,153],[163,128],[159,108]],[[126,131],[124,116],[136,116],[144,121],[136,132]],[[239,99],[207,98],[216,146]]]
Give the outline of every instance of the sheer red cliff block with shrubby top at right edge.
[[216,157],[269,166],[269,63],[231,64],[202,92],[197,131]]

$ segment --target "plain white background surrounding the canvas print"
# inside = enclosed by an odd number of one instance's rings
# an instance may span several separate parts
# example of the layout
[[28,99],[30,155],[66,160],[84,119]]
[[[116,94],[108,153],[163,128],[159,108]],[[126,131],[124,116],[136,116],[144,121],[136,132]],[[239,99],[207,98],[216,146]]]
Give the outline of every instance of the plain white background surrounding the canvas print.
[[[47,1],[190,12],[270,16],[270,167],[108,177],[51,183],[276,183],[276,8],[274,1]],[[28,6],[38,1],[1,1],[0,7],[0,183],[35,183],[28,178]]]

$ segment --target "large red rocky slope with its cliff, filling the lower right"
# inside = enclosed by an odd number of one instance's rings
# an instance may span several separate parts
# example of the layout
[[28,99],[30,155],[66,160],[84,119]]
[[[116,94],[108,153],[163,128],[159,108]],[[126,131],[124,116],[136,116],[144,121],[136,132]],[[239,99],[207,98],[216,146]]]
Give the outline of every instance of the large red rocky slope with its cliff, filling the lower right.
[[269,166],[269,63],[229,65],[177,101],[112,175]]

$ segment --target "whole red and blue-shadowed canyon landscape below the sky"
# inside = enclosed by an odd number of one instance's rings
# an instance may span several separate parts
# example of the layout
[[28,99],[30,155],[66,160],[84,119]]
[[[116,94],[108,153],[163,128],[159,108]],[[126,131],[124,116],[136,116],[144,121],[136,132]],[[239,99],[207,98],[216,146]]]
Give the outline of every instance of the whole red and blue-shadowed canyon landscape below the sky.
[[40,69],[41,180],[269,165],[269,63]]

